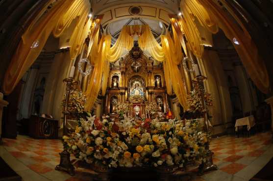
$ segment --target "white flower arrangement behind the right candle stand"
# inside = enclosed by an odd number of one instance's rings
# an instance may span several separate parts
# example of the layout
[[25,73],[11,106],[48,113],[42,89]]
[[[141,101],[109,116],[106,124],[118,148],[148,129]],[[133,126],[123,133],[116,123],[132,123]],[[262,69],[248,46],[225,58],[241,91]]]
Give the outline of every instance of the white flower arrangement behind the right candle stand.
[[[209,93],[205,93],[204,94],[204,98],[205,98],[205,103],[206,106],[212,106],[212,98],[211,98],[211,94]],[[201,96],[197,93],[195,93],[195,91],[191,91],[190,94],[187,95],[187,104],[189,107],[189,111],[191,112],[202,112],[202,100],[201,100]]]

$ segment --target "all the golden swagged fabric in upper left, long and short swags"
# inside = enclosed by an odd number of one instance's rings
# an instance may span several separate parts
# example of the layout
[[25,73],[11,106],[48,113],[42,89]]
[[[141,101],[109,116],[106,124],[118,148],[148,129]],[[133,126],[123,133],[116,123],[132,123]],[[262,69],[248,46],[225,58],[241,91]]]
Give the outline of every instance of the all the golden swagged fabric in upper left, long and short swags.
[[91,19],[86,22],[89,10],[89,0],[59,0],[54,2],[47,13],[41,12],[26,29],[12,57],[3,82],[4,93],[12,92],[39,56],[50,33],[59,37],[69,27],[72,20],[77,18],[76,28],[70,39],[71,58],[74,59],[80,53],[83,41],[89,32],[92,22]]

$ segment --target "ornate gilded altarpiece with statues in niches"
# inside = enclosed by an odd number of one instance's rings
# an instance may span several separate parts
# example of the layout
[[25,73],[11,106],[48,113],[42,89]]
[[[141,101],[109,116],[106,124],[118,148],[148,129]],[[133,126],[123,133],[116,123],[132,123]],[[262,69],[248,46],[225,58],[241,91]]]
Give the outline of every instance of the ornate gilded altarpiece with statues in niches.
[[146,106],[151,102],[156,102],[160,112],[168,112],[164,82],[163,66],[148,58],[136,43],[119,65],[110,66],[103,113],[115,114],[118,104],[125,103],[127,116],[147,118]]

